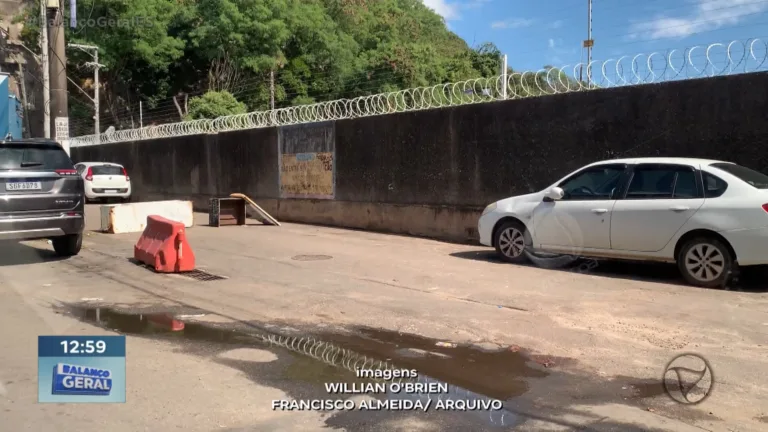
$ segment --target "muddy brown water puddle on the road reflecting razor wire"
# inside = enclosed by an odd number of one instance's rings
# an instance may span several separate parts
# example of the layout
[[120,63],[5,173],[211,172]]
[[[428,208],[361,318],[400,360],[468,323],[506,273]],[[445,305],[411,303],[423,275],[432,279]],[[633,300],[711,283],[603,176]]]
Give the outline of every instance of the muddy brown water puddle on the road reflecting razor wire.
[[[315,389],[322,388],[326,393],[325,383],[329,382],[352,387],[370,383],[371,380],[356,376],[354,371],[358,369],[415,369],[418,371],[418,377],[405,381],[429,386],[445,385],[448,390],[439,395],[406,395],[402,392],[395,394],[388,387],[385,394],[374,396],[379,399],[410,400],[421,404],[437,404],[438,400],[443,403],[462,401],[460,403],[467,404],[467,407],[473,406],[472,404],[475,407],[485,407],[436,414],[459,416],[463,421],[471,414],[470,417],[474,420],[469,426],[482,424],[484,428],[509,428],[522,423],[523,416],[508,409],[512,406],[510,400],[526,393],[531,379],[548,376],[546,367],[565,360],[537,360],[521,352],[519,347],[457,345],[413,334],[372,328],[353,328],[346,333],[288,335],[251,323],[200,321],[194,317],[207,313],[199,310],[118,310],[82,305],[70,305],[67,309],[81,320],[137,336],[209,345],[231,344],[235,345],[233,349],[263,349],[265,345],[281,347],[291,352],[292,356],[289,365],[281,370],[281,379],[302,382],[314,386]],[[326,394],[325,398],[349,396]],[[491,406],[496,409],[489,410],[488,407]],[[499,407],[501,408],[498,409]],[[347,415],[359,417],[365,415],[365,412]]]

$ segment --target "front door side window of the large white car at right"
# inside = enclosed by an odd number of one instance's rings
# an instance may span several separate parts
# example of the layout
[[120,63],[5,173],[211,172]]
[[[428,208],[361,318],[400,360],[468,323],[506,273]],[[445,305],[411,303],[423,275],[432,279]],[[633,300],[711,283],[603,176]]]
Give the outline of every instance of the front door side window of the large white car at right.
[[564,200],[606,200],[619,186],[624,174],[622,165],[588,168],[560,184]]

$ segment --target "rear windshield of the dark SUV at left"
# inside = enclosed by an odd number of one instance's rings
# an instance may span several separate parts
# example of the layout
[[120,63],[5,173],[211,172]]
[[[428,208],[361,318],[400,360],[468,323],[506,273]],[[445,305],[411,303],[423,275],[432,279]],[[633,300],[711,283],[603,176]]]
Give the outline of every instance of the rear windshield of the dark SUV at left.
[[72,160],[58,144],[2,144],[0,170],[74,169]]

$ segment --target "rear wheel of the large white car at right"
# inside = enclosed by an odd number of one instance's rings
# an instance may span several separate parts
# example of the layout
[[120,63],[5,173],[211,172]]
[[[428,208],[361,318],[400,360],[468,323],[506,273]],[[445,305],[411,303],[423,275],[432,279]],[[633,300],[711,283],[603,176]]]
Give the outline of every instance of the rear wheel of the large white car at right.
[[717,288],[727,282],[733,268],[733,256],[722,241],[699,237],[683,245],[677,266],[689,284]]

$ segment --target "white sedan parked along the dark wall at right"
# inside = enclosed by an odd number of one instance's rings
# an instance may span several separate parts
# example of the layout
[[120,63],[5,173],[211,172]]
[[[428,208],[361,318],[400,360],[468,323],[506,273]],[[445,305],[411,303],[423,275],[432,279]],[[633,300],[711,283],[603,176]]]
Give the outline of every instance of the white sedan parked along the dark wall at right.
[[768,264],[768,176],[703,159],[596,162],[489,205],[478,231],[508,262],[524,251],[672,262],[718,287],[736,265]]

